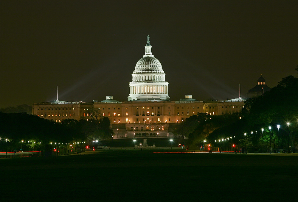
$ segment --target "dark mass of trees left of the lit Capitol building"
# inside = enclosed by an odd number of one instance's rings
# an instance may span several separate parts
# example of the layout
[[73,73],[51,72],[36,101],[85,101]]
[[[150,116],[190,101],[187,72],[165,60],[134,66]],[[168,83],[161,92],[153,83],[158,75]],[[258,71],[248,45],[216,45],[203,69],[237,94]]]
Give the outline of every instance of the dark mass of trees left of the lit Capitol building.
[[[68,143],[111,140],[108,118],[87,121],[66,119],[61,123],[27,113],[0,112],[0,151],[47,150],[50,143],[65,147]],[[6,140],[7,139],[7,140]],[[63,145],[62,145],[63,143]],[[80,147],[84,148],[84,144]],[[78,147],[76,145],[76,147]]]

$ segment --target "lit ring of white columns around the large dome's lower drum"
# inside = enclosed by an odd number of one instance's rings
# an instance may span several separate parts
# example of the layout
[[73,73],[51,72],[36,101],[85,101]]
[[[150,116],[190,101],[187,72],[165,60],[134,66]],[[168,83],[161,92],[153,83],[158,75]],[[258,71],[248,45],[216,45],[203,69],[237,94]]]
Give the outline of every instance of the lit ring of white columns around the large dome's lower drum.
[[130,86],[130,94],[168,93],[167,85]]

